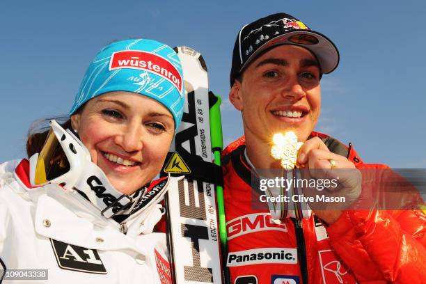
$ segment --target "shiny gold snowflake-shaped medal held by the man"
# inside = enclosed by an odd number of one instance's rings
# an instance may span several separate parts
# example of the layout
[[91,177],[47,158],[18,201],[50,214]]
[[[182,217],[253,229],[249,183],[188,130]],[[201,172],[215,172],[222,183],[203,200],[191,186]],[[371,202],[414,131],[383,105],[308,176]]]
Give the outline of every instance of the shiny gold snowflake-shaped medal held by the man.
[[303,142],[297,141],[297,135],[292,132],[285,134],[277,133],[274,135],[274,146],[271,148],[271,155],[274,159],[281,160],[281,166],[285,170],[291,170],[297,166],[297,151],[303,145]]

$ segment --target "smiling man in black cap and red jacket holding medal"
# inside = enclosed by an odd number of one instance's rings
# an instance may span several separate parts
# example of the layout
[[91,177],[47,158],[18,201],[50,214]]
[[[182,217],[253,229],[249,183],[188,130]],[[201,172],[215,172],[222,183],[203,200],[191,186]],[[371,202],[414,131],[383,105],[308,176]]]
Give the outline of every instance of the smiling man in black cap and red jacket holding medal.
[[260,171],[282,170],[271,156],[279,132],[291,130],[294,143],[303,143],[297,164],[307,173],[352,169],[341,176],[338,191],[349,204],[365,195],[354,182],[358,169],[386,168],[363,164],[351,146],[313,132],[321,111],[320,79],[338,61],[331,40],[291,15],[258,19],[237,35],[229,98],[242,113],[245,136],[223,151],[232,283],[405,283],[426,277],[426,223],[419,211],[313,207],[313,214],[300,210],[294,216],[281,207],[285,214],[276,217],[276,205],[256,205]]

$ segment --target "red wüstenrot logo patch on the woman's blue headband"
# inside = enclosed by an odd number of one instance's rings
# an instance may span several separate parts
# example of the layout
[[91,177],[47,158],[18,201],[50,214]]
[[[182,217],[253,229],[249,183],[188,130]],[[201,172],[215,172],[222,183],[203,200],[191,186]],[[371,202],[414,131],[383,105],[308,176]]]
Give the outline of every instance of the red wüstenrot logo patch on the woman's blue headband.
[[168,80],[182,92],[182,77],[178,70],[166,59],[150,52],[126,50],[114,52],[109,62],[109,70],[130,68],[145,70]]

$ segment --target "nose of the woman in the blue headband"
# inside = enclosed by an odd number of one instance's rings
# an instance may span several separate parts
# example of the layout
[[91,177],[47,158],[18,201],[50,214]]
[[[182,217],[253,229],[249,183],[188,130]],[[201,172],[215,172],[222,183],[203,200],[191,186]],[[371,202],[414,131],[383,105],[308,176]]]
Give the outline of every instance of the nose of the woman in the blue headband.
[[122,132],[116,136],[116,144],[126,152],[135,152],[143,148],[143,125],[129,123],[123,127]]

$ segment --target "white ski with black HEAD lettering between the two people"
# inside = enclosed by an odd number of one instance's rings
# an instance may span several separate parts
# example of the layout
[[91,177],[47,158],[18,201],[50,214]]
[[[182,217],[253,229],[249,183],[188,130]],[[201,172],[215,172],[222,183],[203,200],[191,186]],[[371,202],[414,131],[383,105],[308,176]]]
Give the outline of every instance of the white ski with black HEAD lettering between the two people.
[[177,49],[186,104],[163,171],[187,176],[166,196],[172,278],[178,284],[222,283],[214,184],[206,182],[214,173],[199,175],[200,168],[212,165],[207,68],[194,49]]

